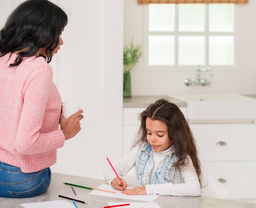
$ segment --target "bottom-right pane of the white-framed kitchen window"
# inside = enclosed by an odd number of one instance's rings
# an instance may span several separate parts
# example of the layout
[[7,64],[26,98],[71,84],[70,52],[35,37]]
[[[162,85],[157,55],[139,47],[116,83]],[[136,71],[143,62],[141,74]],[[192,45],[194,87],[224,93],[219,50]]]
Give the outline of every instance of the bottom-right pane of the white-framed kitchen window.
[[209,64],[234,65],[234,36],[209,36]]

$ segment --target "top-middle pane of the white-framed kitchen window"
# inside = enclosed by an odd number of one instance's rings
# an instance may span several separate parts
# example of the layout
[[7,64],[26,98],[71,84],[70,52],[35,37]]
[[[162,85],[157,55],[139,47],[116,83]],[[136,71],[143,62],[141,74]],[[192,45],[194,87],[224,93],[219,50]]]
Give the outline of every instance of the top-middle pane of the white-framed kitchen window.
[[179,31],[205,31],[205,4],[179,4]]

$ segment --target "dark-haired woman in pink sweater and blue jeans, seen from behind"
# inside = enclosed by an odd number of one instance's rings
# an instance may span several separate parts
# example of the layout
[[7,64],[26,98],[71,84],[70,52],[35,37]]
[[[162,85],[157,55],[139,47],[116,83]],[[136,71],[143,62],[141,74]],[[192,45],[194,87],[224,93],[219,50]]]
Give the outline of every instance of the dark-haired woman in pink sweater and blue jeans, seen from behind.
[[0,31],[1,197],[44,193],[56,149],[81,130],[82,110],[68,119],[61,115],[48,64],[63,44],[66,24],[66,13],[52,2],[27,0]]

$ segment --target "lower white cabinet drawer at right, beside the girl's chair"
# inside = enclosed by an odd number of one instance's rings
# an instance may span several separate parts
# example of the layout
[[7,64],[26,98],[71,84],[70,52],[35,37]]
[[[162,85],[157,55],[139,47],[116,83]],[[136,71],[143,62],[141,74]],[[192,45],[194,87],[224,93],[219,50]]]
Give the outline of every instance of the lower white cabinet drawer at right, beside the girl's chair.
[[213,177],[231,189],[227,199],[249,199],[256,197],[254,162],[205,162]]

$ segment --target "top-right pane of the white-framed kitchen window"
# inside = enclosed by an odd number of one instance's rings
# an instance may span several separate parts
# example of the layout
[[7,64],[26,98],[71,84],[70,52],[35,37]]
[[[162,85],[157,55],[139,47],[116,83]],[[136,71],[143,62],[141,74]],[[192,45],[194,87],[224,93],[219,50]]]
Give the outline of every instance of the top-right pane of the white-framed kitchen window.
[[209,4],[209,31],[234,31],[234,4]]

